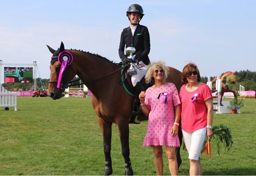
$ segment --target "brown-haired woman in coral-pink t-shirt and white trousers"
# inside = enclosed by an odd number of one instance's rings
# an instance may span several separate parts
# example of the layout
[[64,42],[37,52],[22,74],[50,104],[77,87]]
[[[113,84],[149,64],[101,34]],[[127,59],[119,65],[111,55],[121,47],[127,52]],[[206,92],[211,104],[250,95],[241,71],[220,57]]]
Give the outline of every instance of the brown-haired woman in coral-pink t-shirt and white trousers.
[[209,139],[213,136],[212,95],[210,88],[200,81],[197,65],[190,62],[182,70],[180,89],[181,129],[190,162],[189,175],[202,175],[201,148],[206,135]]

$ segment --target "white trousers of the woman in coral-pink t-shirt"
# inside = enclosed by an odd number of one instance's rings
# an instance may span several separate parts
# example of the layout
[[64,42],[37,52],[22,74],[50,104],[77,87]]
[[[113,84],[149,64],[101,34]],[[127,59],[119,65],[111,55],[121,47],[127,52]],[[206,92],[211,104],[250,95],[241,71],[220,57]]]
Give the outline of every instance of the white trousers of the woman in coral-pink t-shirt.
[[192,133],[182,130],[182,134],[187,148],[188,158],[191,160],[198,160],[201,155],[201,148],[206,138],[206,127]]

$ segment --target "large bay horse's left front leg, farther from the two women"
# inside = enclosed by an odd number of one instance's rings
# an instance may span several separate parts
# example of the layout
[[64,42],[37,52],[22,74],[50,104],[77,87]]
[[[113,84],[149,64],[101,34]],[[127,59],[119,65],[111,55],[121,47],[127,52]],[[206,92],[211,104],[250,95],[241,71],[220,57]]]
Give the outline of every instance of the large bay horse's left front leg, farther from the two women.
[[98,122],[103,135],[104,155],[105,155],[104,175],[111,175],[113,173],[112,161],[111,161],[112,123],[107,122],[100,117],[98,117]]

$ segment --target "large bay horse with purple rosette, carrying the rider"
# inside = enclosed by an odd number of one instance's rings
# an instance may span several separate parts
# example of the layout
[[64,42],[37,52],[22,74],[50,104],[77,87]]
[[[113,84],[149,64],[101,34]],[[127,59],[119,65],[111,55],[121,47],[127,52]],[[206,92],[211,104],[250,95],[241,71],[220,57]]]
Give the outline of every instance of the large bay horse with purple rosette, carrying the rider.
[[[111,161],[111,137],[112,123],[117,124],[121,140],[121,151],[125,163],[125,175],[133,175],[129,148],[129,119],[132,114],[135,98],[126,93],[119,83],[124,64],[116,64],[112,61],[89,52],[65,49],[61,42],[55,49],[48,46],[53,54],[50,64],[50,81],[48,94],[52,99],[62,97],[62,92],[68,87],[68,83],[77,75],[83,84],[92,92],[92,106],[98,116],[98,123],[103,135],[105,170],[104,175],[113,173]],[[168,82],[181,87],[181,72],[169,67]],[[179,130],[180,142],[182,133]],[[177,160],[181,159],[177,148]],[[179,162],[178,162],[179,163]],[[180,165],[179,164],[179,165]]]

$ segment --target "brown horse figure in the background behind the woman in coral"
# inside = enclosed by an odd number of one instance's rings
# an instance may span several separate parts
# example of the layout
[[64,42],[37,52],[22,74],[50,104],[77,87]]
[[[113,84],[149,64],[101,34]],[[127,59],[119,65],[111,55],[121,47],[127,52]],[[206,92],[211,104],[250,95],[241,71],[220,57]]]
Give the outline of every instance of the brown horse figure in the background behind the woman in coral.
[[[225,73],[222,73],[220,76],[222,85],[221,85],[221,92],[220,92],[220,105],[222,105],[222,98],[225,92],[232,92],[234,97],[237,97],[236,91],[229,89],[228,84],[235,84],[236,83],[236,71],[227,71]],[[216,90],[216,80],[218,77],[214,78],[211,83],[212,83],[212,90]]]

